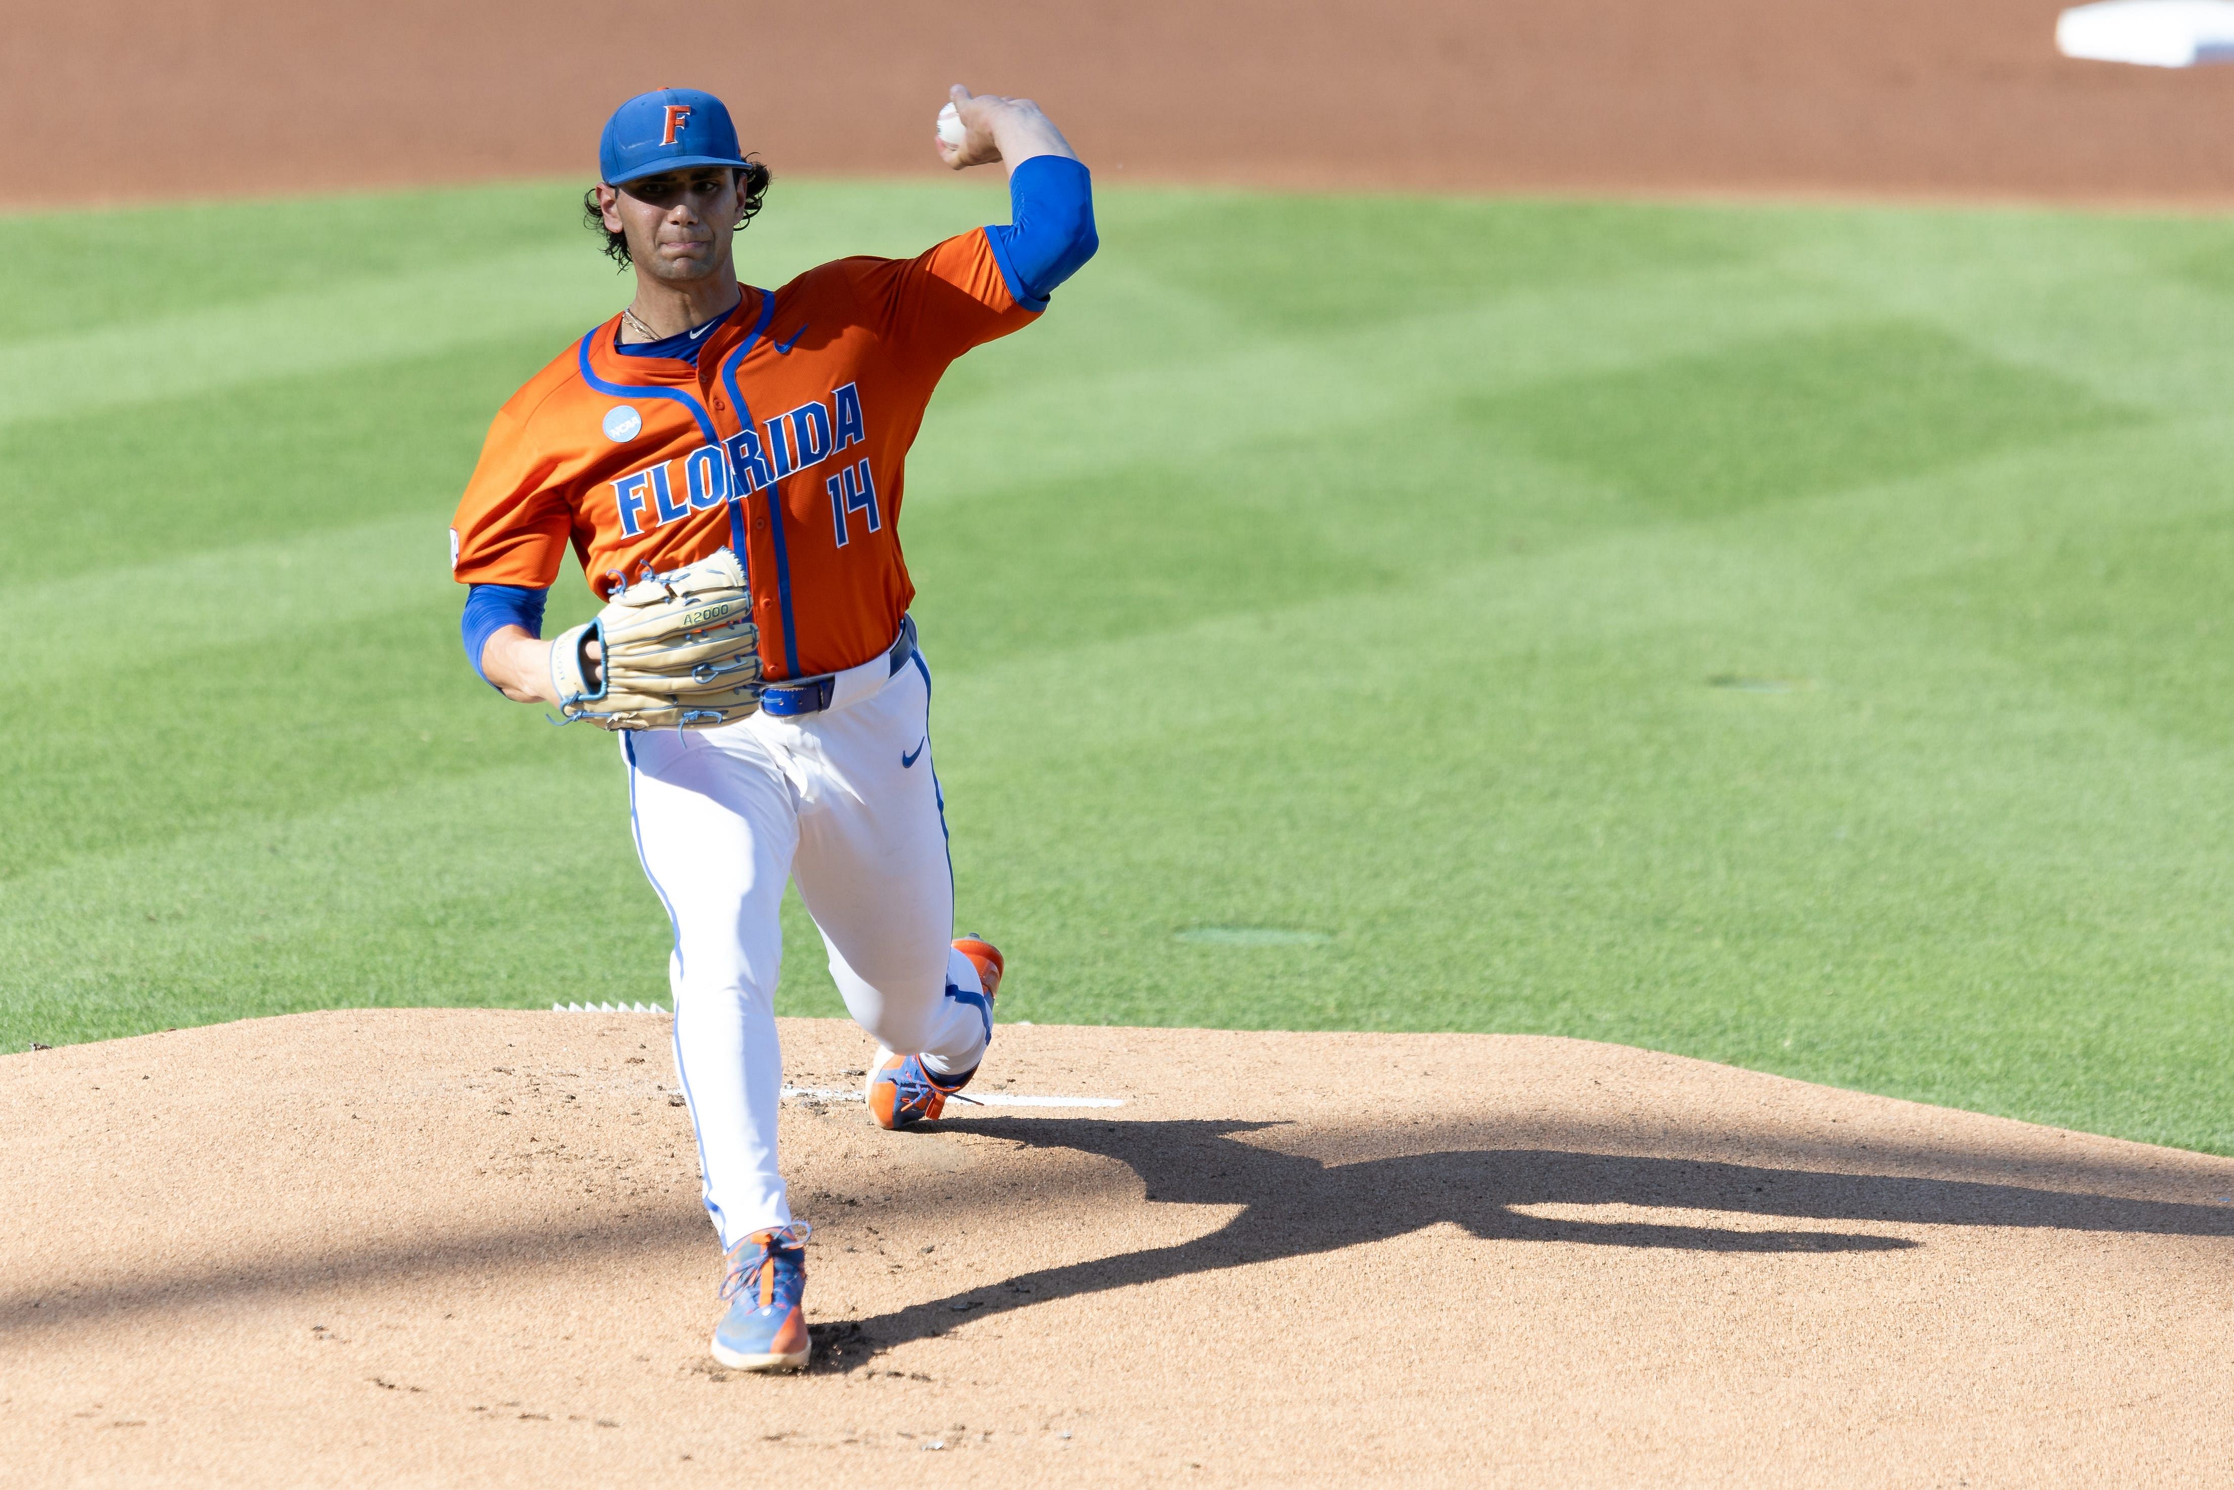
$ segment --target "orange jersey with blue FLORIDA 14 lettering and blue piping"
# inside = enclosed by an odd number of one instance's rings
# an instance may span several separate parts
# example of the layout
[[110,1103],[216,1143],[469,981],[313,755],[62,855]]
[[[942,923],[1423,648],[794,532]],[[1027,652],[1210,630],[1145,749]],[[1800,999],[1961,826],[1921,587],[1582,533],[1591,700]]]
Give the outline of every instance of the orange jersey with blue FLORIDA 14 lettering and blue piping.
[[941,373],[1016,331],[983,230],[916,259],[838,259],[746,288],[697,362],[570,346],[489,427],[451,527],[471,585],[550,588],[567,543],[590,588],[731,545],[768,679],[853,668],[900,632],[907,447]]

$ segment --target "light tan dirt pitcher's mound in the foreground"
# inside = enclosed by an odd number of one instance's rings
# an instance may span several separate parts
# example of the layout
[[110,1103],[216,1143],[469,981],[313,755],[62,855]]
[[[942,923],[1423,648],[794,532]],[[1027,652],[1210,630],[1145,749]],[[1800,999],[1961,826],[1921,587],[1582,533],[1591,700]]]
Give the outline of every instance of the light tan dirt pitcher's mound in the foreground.
[[1559,1039],[1019,1025],[1124,1106],[880,1133],[786,1021],[818,1354],[722,1372],[666,1025],[0,1057],[7,1483],[2225,1472],[2234,1162]]

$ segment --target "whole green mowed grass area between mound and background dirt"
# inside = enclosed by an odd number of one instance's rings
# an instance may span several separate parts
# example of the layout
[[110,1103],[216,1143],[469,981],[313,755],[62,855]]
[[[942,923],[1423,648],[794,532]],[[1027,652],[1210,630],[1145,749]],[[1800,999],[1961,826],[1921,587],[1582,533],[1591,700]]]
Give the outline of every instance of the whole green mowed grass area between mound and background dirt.
[[[612,739],[467,672],[445,567],[489,413],[626,293],[576,190],[0,219],[0,1050],[666,996]],[[780,179],[746,275],[999,214]],[[1101,226],[903,525],[1010,1019],[1579,1034],[2234,1153],[2234,223]]]

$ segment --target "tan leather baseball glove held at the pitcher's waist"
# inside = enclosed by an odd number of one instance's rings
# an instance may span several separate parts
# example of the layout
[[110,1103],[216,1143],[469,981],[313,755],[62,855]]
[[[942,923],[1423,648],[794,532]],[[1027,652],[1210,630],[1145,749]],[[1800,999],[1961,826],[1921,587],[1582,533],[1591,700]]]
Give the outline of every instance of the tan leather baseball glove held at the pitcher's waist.
[[[596,637],[603,657],[596,684],[583,643]],[[760,628],[753,592],[731,550],[646,574],[596,619],[561,632],[552,646],[552,684],[567,724],[588,719],[605,730],[704,730],[760,708]]]

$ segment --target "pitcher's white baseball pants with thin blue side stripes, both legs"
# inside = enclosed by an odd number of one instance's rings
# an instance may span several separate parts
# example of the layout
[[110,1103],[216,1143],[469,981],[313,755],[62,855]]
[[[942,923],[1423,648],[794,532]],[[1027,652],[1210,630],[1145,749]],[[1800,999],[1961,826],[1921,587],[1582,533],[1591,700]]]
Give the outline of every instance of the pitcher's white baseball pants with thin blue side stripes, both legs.
[[840,675],[822,713],[621,735],[643,873],[675,923],[675,1066],[722,1247],[791,1224],[775,1157],[784,882],[847,1012],[938,1072],[972,1070],[992,1005],[954,952],[954,871],[916,657]]

